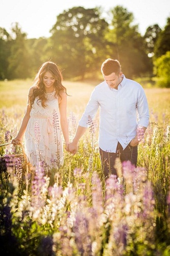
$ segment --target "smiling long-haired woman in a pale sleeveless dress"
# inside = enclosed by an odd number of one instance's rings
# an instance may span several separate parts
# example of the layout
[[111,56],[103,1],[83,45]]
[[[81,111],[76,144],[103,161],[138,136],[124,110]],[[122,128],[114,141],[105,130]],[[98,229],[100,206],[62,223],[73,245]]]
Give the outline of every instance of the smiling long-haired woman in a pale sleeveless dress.
[[69,143],[66,97],[59,68],[54,62],[44,62],[29,90],[27,111],[19,132],[12,140],[17,145],[25,134],[26,155],[32,166],[43,161],[45,167],[57,168],[63,163],[60,126],[66,150]]

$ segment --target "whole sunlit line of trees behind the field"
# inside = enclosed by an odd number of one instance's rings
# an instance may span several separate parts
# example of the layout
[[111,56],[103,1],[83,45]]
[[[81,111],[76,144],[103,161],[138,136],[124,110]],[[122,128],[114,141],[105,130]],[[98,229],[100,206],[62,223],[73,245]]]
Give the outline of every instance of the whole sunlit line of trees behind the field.
[[0,79],[32,78],[52,60],[64,79],[98,78],[106,58],[118,59],[128,78],[153,77],[170,87],[170,17],[163,30],[155,24],[144,36],[133,13],[116,6],[104,18],[102,8],[73,7],[57,16],[51,37],[28,39],[18,23],[9,34],[0,28]]

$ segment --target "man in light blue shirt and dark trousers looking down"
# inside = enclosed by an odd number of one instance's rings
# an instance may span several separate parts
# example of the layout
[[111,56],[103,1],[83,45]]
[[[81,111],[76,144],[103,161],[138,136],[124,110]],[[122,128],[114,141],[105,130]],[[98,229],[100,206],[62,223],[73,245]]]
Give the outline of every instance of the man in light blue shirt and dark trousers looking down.
[[137,129],[140,127],[143,134],[147,129],[149,108],[143,88],[125,77],[118,60],[106,59],[101,71],[105,81],[93,90],[68,151],[76,154],[79,139],[88,127],[88,116],[93,119],[100,107],[99,151],[106,179],[109,174],[117,175],[117,157],[137,165]]

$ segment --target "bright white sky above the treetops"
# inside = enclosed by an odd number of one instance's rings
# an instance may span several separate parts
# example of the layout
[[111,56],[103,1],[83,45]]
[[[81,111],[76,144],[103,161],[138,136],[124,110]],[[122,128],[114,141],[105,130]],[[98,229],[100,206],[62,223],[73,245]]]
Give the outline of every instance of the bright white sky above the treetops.
[[117,5],[133,13],[141,35],[154,24],[163,29],[170,17],[170,0],[0,0],[0,27],[11,33],[12,23],[17,22],[27,38],[50,37],[57,15],[64,10],[102,7],[105,15]]

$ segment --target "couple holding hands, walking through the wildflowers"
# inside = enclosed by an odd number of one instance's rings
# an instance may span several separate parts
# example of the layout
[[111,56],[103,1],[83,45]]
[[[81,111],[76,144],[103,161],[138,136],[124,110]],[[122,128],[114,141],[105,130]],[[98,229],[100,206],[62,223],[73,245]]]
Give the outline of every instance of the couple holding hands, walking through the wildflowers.
[[[149,107],[142,86],[127,79],[118,60],[108,58],[101,66],[104,81],[96,86],[79,121],[72,142],[69,143],[66,117],[67,92],[56,63],[47,61],[40,67],[29,90],[26,114],[22,119],[14,145],[25,134],[28,161],[36,166],[44,161],[48,168],[63,164],[63,145],[76,154],[80,138],[88,128],[88,118],[94,119],[100,108],[99,153],[105,178],[117,175],[115,159],[137,165],[137,145],[149,125]],[[61,127],[61,129],[60,129]]]

